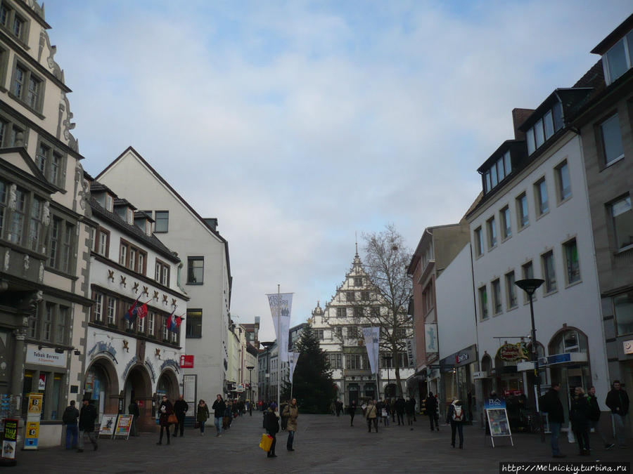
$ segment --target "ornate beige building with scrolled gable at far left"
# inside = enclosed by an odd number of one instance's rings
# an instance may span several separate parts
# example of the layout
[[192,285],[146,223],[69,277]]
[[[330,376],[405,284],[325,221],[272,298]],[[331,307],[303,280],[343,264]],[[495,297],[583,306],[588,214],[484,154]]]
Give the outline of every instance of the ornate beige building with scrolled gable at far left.
[[90,223],[63,70],[37,1],[0,3],[0,419],[41,393],[39,446],[81,400]]

